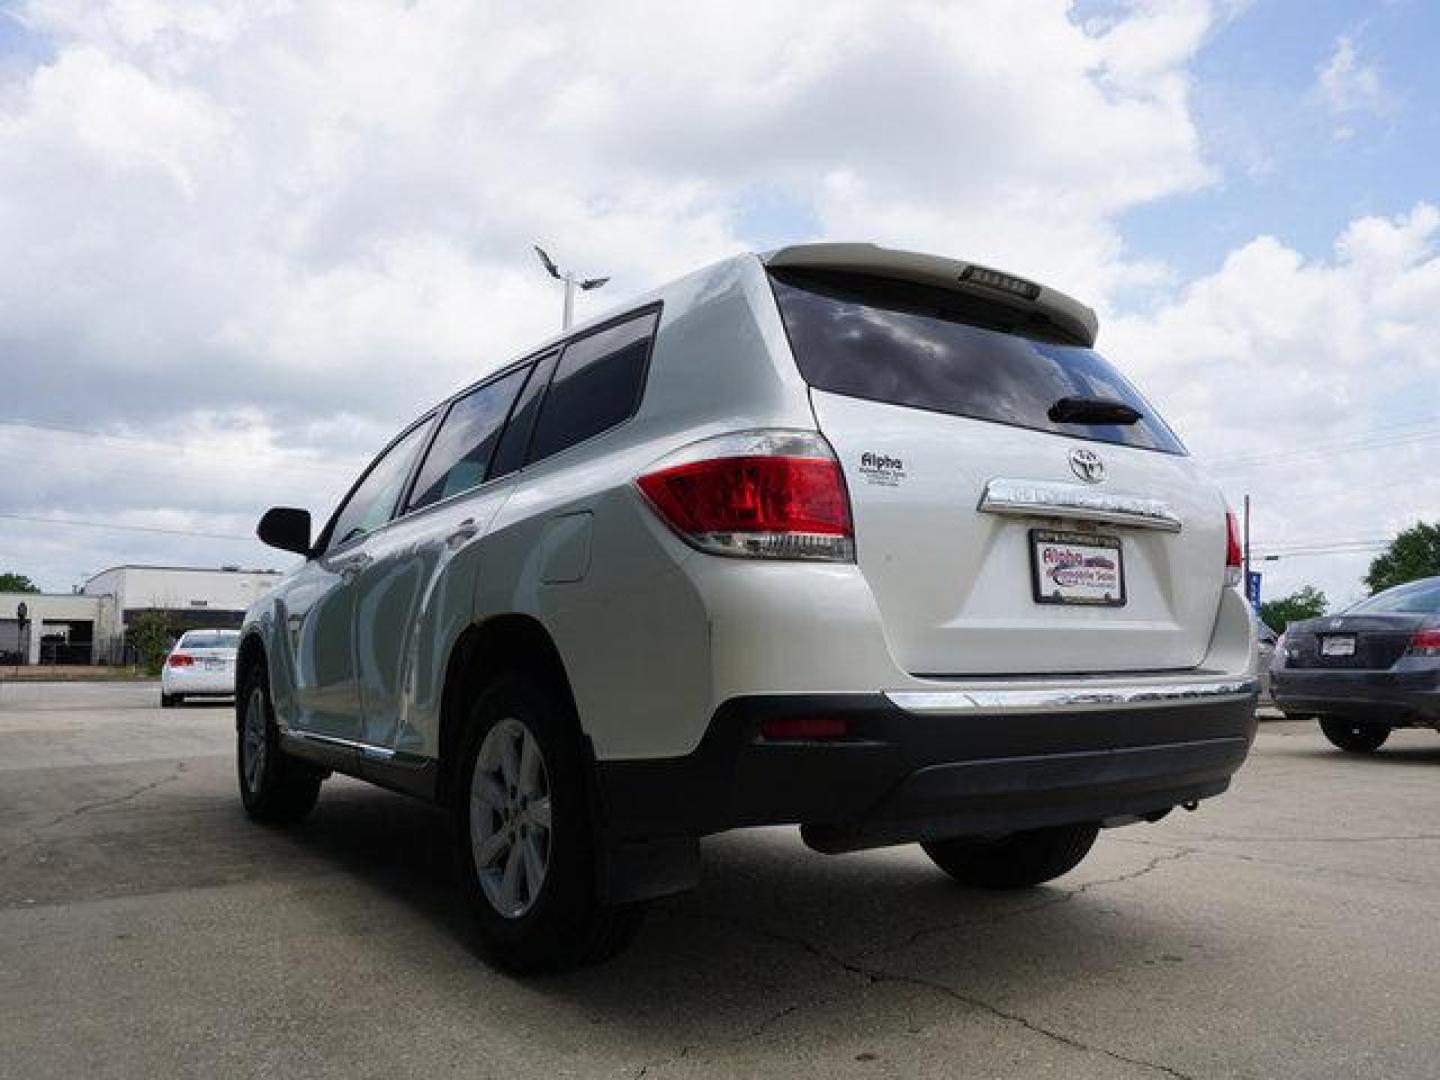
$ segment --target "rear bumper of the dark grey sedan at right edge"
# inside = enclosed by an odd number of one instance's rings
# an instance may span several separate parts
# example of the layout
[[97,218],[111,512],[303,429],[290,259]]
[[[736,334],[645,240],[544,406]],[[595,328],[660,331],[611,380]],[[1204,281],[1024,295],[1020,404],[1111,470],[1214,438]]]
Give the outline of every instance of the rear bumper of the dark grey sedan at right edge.
[[1270,694],[1286,713],[1440,723],[1440,661],[1403,660],[1388,671],[1272,668]]

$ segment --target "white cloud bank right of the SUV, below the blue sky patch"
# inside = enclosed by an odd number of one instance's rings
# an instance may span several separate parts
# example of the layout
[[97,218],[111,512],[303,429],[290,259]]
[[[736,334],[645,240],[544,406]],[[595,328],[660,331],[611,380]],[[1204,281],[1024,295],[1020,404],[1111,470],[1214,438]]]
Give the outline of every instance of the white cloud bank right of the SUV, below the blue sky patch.
[[[1263,236],[1106,351],[1133,372],[1231,503],[1254,501],[1257,550],[1382,541],[1440,520],[1440,210],[1361,217],[1329,259]],[[1374,553],[1263,569],[1272,593],[1316,582],[1355,599]]]

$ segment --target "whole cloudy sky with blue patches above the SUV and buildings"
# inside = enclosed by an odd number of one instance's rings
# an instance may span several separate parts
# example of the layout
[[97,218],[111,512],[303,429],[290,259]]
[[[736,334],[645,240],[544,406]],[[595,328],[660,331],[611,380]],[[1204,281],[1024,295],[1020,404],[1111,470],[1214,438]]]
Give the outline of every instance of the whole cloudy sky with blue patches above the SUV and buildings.
[[0,569],[282,566],[265,507],[553,331],[534,240],[589,315],[864,239],[1092,302],[1267,592],[1345,602],[1440,518],[1437,45],[1427,0],[0,0]]

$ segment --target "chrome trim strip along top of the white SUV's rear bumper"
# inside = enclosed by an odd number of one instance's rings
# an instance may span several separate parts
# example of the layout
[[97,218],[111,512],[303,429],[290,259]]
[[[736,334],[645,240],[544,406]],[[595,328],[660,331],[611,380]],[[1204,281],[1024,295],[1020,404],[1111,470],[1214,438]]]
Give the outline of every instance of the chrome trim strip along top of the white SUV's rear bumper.
[[1109,708],[1218,704],[1241,701],[1260,693],[1259,678],[1225,678],[1208,683],[1128,683],[1054,688],[1011,687],[995,690],[890,690],[886,697],[907,713],[963,716],[968,713],[1081,713]]

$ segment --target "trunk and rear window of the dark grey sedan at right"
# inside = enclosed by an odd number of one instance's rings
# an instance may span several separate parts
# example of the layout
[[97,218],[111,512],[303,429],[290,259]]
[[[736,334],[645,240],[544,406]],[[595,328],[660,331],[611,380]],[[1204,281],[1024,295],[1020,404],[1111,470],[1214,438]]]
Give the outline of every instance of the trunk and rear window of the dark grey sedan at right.
[[1440,577],[1411,582],[1361,600],[1344,615],[1292,624],[1284,665],[1385,671],[1410,648],[1417,631],[1440,626]]

